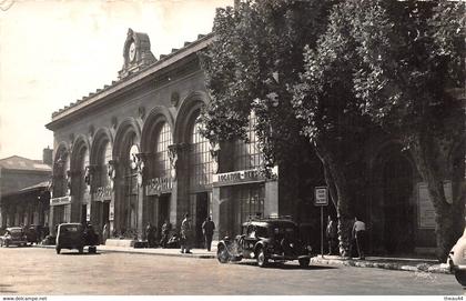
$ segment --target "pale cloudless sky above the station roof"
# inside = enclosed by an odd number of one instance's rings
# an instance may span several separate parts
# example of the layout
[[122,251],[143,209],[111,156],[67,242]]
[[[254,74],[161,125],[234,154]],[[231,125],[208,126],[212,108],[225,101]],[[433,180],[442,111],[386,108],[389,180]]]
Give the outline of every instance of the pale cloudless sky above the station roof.
[[[10,7],[11,4],[11,7]],[[52,112],[118,78],[132,28],[155,58],[212,30],[233,0],[1,0],[0,159],[41,160]]]

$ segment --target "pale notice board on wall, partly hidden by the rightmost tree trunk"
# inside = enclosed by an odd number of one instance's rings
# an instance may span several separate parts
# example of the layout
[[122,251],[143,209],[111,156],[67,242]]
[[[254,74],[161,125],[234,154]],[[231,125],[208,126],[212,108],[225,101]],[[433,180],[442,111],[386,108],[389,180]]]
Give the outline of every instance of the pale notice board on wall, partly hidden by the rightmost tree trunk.
[[[446,201],[452,203],[452,181],[444,181],[444,191]],[[427,183],[418,183],[417,192],[419,229],[435,229],[435,209],[428,193]]]

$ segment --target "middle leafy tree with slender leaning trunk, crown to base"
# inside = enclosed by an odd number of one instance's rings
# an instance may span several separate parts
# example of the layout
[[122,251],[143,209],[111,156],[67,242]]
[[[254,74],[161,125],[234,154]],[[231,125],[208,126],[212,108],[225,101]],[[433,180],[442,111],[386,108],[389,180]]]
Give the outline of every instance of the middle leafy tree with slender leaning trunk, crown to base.
[[[374,126],[362,116],[353,91],[353,74],[361,62],[352,37],[355,6],[333,7],[327,30],[316,46],[304,50],[305,71],[293,90],[294,109],[304,121],[303,133],[314,143],[338,214],[340,252],[350,257],[355,192],[362,190],[354,162]],[[353,180],[352,180],[353,179]]]

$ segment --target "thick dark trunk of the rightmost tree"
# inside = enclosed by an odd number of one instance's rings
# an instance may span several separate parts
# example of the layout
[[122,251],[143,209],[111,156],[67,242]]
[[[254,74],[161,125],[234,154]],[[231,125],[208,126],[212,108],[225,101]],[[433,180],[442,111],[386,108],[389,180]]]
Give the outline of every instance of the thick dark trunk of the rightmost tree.
[[434,138],[428,133],[421,133],[415,136],[412,152],[417,169],[427,183],[435,209],[436,255],[442,262],[445,262],[449,250],[464,231],[465,200],[464,185],[460,185],[462,191],[457,193],[458,195],[453,195],[452,203],[446,200],[443,181],[449,179],[454,187],[457,180],[463,179],[454,179],[453,160],[447,159],[448,152],[445,151],[450,148],[448,146],[443,148],[439,143],[439,141],[434,141]]

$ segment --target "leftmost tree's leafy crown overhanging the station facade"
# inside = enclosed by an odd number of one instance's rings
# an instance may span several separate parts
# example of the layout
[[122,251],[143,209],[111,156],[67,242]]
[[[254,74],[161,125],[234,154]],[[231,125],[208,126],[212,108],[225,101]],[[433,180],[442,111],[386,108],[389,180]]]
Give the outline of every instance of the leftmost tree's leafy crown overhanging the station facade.
[[217,9],[214,41],[201,54],[211,96],[201,113],[203,134],[213,143],[246,139],[254,111],[265,168],[280,165],[281,175],[296,178],[288,181],[296,189],[312,146],[300,134],[287,87],[303,70],[304,44],[324,30],[330,2],[250,0]]

